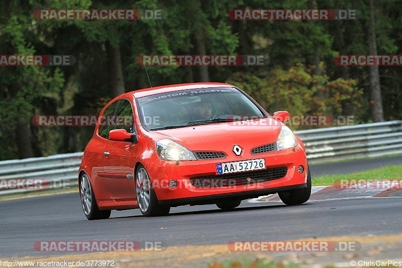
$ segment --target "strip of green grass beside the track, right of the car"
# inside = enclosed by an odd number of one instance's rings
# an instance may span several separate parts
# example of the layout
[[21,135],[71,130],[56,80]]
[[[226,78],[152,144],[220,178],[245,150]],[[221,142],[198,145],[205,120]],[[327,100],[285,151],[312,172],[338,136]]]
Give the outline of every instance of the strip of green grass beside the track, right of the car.
[[335,180],[339,179],[402,180],[402,165],[387,165],[378,169],[369,169],[350,174],[321,175],[317,177],[312,174],[312,176],[313,186],[331,186],[334,185]]

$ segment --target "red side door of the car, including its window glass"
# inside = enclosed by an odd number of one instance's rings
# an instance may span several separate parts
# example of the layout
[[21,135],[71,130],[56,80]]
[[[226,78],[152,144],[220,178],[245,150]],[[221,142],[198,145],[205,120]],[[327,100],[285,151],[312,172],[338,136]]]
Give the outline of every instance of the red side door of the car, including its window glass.
[[[134,114],[131,102],[121,99],[113,129],[126,129],[134,133]],[[136,200],[134,188],[134,163],[136,144],[126,141],[108,140],[104,157],[104,176],[107,187],[116,202]]]

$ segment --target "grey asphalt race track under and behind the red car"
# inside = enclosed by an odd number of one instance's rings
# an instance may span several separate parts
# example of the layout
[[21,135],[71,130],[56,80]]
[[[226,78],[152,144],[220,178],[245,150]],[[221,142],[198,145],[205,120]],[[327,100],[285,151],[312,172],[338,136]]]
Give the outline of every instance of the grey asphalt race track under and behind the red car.
[[[348,173],[402,164],[402,157],[312,165],[313,174]],[[294,240],[340,235],[401,233],[401,198],[311,201],[299,206],[243,201],[233,211],[215,205],[172,208],[169,216],[143,217],[139,210],[112,211],[111,219],[88,221],[79,196],[61,194],[0,202],[0,258],[53,256],[37,241],[160,241],[166,246],[230,241]],[[67,253],[68,254],[68,253]]]

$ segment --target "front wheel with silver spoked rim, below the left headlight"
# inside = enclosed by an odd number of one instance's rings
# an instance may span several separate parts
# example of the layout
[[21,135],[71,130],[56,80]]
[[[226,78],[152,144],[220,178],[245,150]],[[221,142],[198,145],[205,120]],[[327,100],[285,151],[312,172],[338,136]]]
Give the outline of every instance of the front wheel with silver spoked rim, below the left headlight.
[[146,217],[166,216],[170,207],[159,205],[158,198],[152,188],[152,183],[147,170],[139,165],[135,176],[135,188],[137,201],[142,215]]

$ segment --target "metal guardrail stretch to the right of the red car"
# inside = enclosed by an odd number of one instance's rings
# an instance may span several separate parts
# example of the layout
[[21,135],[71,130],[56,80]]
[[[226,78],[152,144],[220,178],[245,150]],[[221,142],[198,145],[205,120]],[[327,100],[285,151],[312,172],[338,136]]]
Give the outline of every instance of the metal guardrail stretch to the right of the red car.
[[309,163],[402,153],[402,121],[294,132],[306,145]]

